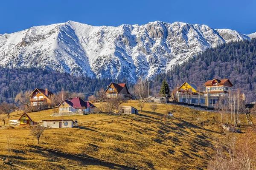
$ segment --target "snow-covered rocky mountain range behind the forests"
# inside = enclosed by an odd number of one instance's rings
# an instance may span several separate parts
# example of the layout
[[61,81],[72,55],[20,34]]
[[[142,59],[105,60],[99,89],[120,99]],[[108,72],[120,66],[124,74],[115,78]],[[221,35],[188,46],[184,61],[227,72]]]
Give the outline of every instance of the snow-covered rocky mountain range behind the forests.
[[250,37],[237,31],[180,22],[113,27],[68,21],[0,34],[0,66],[136,81],[168,71],[207,48],[245,39]]

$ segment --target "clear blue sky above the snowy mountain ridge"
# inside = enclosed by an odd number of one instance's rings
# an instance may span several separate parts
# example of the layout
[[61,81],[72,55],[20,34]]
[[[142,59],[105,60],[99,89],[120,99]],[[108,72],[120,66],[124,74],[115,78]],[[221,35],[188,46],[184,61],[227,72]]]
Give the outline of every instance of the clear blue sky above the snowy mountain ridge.
[[175,21],[256,32],[256,0],[1,0],[0,34],[68,20],[93,26]]

